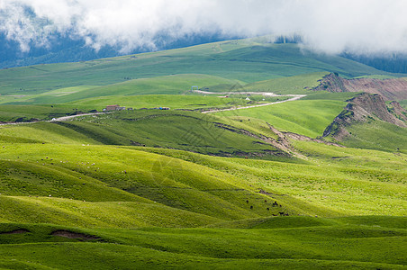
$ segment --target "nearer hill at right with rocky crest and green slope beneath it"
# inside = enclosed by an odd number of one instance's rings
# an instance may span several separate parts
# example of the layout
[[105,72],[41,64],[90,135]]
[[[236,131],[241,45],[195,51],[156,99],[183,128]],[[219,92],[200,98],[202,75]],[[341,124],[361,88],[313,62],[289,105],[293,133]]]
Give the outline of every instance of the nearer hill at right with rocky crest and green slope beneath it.
[[[392,110],[379,94],[359,94],[348,100],[344,111],[327,127],[323,137],[358,148],[402,151],[407,149],[406,112],[393,103]],[[392,113],[393,112],[393,113]]]

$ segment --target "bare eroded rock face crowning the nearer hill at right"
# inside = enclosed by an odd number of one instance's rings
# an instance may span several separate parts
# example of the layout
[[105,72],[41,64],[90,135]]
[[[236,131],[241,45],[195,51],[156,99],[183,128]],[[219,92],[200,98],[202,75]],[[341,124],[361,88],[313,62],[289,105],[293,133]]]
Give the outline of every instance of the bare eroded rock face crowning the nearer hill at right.
[[348,100],[346,108],[325,129],[322,137],[332,136],[342,140],[349,135],[347,126],[372,119],[386,121],[403,128],[407,127],[405,122],[407,112],[399,103],[393,102],[392,104],[392,107],[387,107],[380,94],[358,94]]

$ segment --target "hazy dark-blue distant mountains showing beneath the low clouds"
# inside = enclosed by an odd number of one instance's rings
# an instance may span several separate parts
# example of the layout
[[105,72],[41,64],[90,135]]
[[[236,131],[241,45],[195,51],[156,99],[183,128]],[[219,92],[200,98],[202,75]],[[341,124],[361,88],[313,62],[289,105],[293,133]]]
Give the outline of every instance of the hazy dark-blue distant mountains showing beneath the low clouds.
[[[194,45],[201,45],[222,40],[241,39],[238,36],[224,36],[222,33],[201,34],[184,36],[178,40],[167,38],[165,34],[157,37],[156,48],[132,49],[128,53],[122,53],[120,48],[114,46],[104,46],[95,50],[86,46],[84,40],[67,36],[55,35],[50,40],[47,47],[38,47],[34,43],[29,44],[31,50],[22,52],[18,42],[8,40],[5,34],[0,33],[0,68],[5,67],[26,67],[40,64],[66,63],[87,61],[98,58],[113,58],[126,54],[138,54],[143,52],[159,51],[166,49],[186,48]],[[256,39],[256,38],[255,38]],[[261,38],[260,38],[261,39]],[[303,41],[301,36],[285,37],[278,36],[267,39],[267,42],[276,44],[292,43],[298,44]],[[343,58],[354,60],[369,67],[375,67],[391,73],[407,73],[407,56],[366,56],[342,53]]]

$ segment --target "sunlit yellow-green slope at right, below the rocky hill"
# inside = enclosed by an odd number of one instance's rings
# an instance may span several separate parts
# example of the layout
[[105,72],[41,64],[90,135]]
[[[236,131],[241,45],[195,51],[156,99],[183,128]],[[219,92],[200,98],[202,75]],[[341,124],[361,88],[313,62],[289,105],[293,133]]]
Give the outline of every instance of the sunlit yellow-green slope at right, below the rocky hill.
[[308,141],[295,141],[294,146],[308,156],[308,164],[153,151],[235,175],[256,190],[308,214],[405,215],[404,154],[394,156]]

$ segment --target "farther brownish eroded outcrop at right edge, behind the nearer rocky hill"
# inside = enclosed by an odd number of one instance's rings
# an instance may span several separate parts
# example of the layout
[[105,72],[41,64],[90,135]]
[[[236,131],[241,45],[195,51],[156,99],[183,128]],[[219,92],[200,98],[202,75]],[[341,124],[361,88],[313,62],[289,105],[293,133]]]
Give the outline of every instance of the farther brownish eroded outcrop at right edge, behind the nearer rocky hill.
[[365,92],[369,94],[381,94],[385,101],[407,99],[407,79],[374,79],[355,78],[346,79],[331,73],[321,79],[320,85],[313,90],[325,90],[338,92]]

